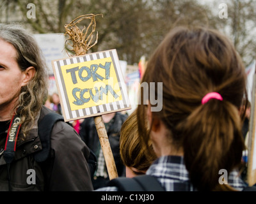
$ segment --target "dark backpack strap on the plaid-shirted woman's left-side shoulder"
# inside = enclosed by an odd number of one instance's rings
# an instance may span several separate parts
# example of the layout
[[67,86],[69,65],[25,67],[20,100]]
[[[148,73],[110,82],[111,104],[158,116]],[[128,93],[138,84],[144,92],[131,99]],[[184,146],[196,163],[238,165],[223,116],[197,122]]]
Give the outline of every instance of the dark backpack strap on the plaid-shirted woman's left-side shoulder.
[[158,180],[151,175],[112,179],[108,186],[116,186],[120,191],[165,191]]

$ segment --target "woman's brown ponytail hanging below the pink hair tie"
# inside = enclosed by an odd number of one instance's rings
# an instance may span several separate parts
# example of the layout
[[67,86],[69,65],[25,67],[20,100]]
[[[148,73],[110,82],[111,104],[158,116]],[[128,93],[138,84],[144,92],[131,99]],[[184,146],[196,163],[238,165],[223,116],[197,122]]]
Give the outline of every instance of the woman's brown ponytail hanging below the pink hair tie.
[[229,173],[241,163],[244,150],[241,119],[236,106],[211,99],[180,124],[184,161],[193,185],[202,191],[230,189],[220,185],[219,171]]

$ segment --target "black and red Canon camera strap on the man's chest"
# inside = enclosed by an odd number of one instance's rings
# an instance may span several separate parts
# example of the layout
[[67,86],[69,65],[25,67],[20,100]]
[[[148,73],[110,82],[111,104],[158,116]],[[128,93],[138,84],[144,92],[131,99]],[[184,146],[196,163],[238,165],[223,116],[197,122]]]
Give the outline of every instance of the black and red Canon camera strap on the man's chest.
[[16,142],[20,131],[20,117],[19,115],[13,115],[8,129],[5,147],[4,147],[4,160],[7,164],[12,163],[15,157]]

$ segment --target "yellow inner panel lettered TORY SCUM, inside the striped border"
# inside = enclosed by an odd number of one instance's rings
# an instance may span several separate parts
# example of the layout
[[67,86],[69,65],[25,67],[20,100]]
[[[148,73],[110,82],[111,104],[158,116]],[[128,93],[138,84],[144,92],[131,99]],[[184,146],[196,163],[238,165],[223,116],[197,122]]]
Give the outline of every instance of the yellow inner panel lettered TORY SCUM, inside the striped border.
[[111,57],[61,66],[71,110],[122,100]]

